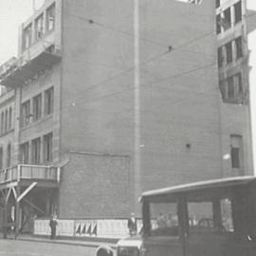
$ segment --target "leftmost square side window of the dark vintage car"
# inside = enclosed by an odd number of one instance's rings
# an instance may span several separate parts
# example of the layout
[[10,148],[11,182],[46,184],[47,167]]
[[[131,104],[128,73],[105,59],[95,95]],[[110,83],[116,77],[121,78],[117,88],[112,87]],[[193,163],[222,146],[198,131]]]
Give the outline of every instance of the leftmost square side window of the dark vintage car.
[[152,236],[178,236],[176,203],[152,203],[150,216]]

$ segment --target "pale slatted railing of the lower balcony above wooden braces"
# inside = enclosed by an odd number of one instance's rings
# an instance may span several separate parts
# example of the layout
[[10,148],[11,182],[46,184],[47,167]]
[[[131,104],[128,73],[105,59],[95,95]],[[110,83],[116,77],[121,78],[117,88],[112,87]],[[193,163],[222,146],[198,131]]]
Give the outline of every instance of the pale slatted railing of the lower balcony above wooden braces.
[[0,171],[0,184],[26,179],[60,182],[60,169],[53,166],[19,164]]

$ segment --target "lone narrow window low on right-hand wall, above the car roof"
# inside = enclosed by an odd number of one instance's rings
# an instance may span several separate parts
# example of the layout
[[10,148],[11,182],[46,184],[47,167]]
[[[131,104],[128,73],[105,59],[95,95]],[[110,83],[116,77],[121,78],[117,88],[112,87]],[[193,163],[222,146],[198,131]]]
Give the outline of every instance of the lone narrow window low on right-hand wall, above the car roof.
[[231,167],[240,169],[242,162],[242,136],[231,135],[230,142]]

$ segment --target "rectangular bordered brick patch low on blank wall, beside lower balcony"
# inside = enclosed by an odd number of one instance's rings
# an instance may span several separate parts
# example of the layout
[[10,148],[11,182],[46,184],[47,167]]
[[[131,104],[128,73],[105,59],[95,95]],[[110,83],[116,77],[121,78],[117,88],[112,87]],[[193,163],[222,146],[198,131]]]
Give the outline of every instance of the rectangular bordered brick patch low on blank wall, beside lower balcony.
[[62,170],[60,218],[129,216],[130,158],[72,153]]

